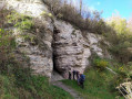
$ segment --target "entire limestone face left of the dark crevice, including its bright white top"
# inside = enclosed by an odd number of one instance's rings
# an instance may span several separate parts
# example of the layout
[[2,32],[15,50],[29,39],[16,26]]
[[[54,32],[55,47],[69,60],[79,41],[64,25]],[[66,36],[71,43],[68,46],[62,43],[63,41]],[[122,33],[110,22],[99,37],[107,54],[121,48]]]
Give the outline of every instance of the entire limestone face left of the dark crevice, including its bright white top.
[[49,13],[48,7],[44,6],[41,0],[7,0],[8,9],[14,9],[17,12],[30,15],[38,19],[38,25],[43,26],[43,31],[30,34],[37,37],[39,43],[37,45],[31,45],[26,42],[23,37],[19,36],[21,33],[14,29],[13,35],[18,43],[18,50],[24,53],[30,59],[30,67],[33,69],[33,74],[39,74],[43,76],[51,77],[53,70],[52,63],[52,35],[53,35],[53,24],[50,18],[44,18],[43,12]]

